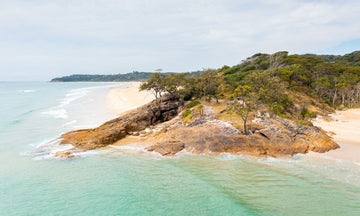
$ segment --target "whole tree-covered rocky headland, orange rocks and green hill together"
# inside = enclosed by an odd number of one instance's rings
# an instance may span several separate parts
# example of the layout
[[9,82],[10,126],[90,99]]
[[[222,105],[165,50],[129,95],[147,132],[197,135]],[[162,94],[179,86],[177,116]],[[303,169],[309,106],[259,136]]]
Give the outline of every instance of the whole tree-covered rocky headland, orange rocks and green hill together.
[[255,54],[199,74],[152,73],[139,90],[155,100],[94,129],[63,134],[72,152],[140,143],[174,156],[245,154],[289,157],[339,148],[311,120],[360,101],[360,52],[344,56]]

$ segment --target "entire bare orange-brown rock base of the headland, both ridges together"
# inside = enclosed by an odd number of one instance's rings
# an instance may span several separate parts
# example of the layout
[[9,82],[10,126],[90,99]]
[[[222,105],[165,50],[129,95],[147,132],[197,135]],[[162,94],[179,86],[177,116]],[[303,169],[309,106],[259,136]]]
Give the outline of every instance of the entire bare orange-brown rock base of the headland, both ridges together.
[[[339,148],[325,131],[280,117],[255,119],[261,127],[253,129],[250,135],[244,135],[231,123],[217,119],[211,106],[205,106],[201,114],[194,114],[191,121],[184,121],[178,115],[183,105],[182,100],[168,95],[95,129],[63,134],[61,143],[89,150],[114,144],[132,135],[146,144],[146,150],[163,156],[174,156],[186,150],[208,155],[226,152],[283,157]],[[62,153],[58,157],[70,155]]]

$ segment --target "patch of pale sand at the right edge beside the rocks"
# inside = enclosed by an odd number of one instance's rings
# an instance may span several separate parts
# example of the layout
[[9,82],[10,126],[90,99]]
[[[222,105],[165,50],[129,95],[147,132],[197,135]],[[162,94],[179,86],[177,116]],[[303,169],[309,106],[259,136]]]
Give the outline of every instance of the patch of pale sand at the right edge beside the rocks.
[[336,111],[331,117],[334,121],[319,118],[313,121],[314,125],[325,131],[334,132],[334,141],[340,145],[340,149],[323,155],[360,162],[360,109]]

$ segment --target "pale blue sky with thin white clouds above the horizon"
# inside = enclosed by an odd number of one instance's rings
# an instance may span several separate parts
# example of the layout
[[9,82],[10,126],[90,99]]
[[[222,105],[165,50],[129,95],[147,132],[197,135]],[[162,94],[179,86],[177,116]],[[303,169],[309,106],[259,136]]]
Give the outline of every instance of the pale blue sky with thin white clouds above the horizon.
[[359,0],[0,0],[0,80],[360,50]]

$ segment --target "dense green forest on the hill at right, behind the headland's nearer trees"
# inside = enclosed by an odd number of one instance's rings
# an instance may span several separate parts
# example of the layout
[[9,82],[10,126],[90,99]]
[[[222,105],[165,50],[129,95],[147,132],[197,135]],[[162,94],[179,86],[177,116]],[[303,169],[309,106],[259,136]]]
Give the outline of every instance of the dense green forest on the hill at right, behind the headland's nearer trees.
[[[331,57],[331,58],[330,58]],[[240,65],[223,67],[220,72],[235,88],[251,73],[265,72],[280,78],[290,91],[316,96],[317,102],[352,107],[359,104],[360,52],[344,56],[299,56],[278,52],[256,54]]]

